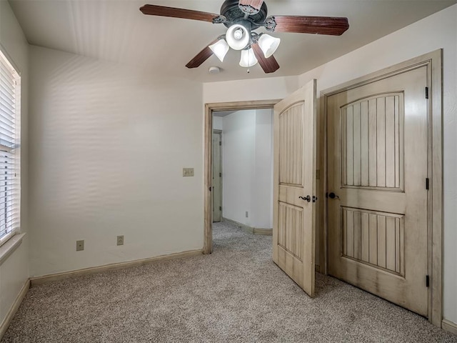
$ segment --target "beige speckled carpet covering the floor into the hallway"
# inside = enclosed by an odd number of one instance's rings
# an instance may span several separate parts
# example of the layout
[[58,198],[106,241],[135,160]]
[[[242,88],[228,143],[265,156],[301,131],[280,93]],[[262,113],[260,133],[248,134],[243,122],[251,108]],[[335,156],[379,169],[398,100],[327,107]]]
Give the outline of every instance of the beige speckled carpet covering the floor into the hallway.
[[310,299],[271,262],[271,237],[214,225],[214,253],[30,289],[1,342],[457,342],[331,277]]

